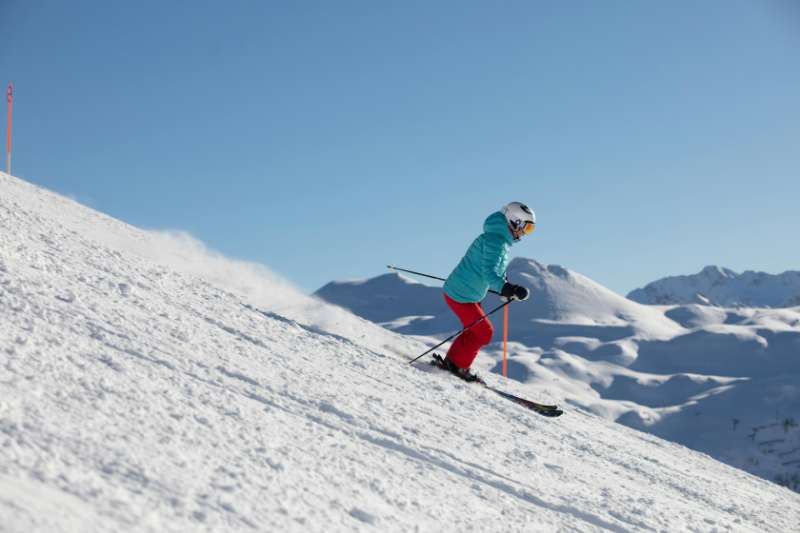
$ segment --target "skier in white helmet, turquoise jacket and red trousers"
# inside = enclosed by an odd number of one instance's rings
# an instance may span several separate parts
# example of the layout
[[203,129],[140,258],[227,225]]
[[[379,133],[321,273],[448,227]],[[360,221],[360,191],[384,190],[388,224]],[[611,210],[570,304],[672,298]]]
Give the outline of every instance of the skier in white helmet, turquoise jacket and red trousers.
[[[489,289],[504,298],[528,299],[528,289],[508,282],[506,267],[511,245],[533,232],[535,226],[536,215],[520,202],[511,202],[483,223],[483,233],[472,242],[444,284],[445,302],[464,327],[483,316],[480,302]],[[442,366],[465,381],[479,381],[469,367],[481,347],[492,340],[492,333],[492,323],[481,320],[458,336]]]

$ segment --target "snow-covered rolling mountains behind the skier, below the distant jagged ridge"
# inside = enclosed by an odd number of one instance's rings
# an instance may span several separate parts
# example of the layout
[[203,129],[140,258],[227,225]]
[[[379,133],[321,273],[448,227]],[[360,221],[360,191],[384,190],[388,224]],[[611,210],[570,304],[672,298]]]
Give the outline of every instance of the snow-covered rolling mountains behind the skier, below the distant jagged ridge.
[[[531,289],[530,300],[510,307],[509,378],[800,489],[800,308],[643,305],[523,258],[508,275]],[[380,299],[372,301],[377,280]],[[394,275],[326,287],[317,295],[421,340],[460,328],[449,310],[434,307],[438,287]],[[487,298],[484,307],[496,304]],[[492,321],[502,331],[501,317]],[[499,334],[494,341],[475,367],[497,374]]]

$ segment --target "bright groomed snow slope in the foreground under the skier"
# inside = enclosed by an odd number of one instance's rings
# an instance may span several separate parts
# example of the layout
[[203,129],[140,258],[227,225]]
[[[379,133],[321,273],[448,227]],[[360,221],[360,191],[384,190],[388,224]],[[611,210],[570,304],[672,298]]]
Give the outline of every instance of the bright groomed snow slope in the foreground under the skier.
[[259,311],[108,238],[163,245],[153,234],[2,174],[0,231],[0,531],[800,521],[800,496],[775,484]]

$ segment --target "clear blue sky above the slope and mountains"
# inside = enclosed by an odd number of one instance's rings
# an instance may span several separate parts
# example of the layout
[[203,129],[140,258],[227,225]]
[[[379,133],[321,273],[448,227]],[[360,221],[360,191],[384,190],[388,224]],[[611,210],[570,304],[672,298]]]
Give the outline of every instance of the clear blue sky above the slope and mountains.
[[[14,174],[300,287],[484,218],[622,293],[800,268],[800,4],[0,2]],[[5,122],[5,108],[3,108]]]

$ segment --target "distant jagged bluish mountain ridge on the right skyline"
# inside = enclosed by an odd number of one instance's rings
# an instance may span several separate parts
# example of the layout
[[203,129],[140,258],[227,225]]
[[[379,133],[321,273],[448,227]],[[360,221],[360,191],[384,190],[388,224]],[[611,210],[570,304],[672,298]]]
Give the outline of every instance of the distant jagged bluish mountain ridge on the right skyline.
[[800,305],[800,271],[767,274],[707,266],[697,274],[672,276],[628,294],[654,305],[707,304],[721,307],[794,307]]

